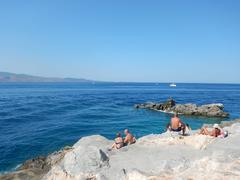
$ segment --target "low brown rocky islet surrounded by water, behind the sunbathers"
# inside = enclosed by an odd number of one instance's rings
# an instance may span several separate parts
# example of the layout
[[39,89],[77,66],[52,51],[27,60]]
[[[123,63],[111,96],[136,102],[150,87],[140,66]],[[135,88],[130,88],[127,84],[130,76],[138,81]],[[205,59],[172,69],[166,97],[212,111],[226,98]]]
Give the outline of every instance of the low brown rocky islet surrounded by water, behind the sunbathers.
[[176,104],[173,99],[167,100],[165,103],[144,103],[136,104],[135,108],[139,109],[151,109],[157,110],[165,113],[178,112],[183,115],[190,116],[205,116],[205,117],[229,117],[229,113],[224,112],[224,105],[221,103],[217,104],[205,104],[198,106],[196,104]]

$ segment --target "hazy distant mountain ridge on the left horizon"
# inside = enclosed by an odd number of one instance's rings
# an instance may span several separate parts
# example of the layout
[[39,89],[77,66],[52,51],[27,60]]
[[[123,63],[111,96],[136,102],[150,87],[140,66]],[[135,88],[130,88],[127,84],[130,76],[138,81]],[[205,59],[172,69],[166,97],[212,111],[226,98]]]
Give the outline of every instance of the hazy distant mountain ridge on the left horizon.
[[0,72],[0,82],[80,82],[94,83],[95,81],[77,78],[52,78],[31,76],[26,74],[15,74],[9,72]]

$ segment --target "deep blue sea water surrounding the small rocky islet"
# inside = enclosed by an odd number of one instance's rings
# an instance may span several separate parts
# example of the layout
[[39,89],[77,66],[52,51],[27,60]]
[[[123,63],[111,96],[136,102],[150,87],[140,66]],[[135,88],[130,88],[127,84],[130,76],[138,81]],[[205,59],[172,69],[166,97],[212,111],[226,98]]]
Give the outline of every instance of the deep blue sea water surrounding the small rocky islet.
[[[154,83],[5,83],[0,84],[0,172],[46,155],[87,135],[114,138],[129,128],[141,137],[164,131],[170,115],[134,109],[136,103],[223,103],[240,117],[240,85]],[[223,119],[181,117],[193,129]]]

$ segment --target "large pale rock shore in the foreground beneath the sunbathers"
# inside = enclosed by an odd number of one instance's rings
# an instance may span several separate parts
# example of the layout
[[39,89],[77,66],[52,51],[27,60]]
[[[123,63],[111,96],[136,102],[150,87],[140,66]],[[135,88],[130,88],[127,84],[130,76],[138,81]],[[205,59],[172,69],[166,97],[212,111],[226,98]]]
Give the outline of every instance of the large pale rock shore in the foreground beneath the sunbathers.
[[109,151],[113,141],[81,138],[70,148],[26,161],[1,180],[239,179],[240,119],[220,124],[226,138],[175,132],[150,134]]

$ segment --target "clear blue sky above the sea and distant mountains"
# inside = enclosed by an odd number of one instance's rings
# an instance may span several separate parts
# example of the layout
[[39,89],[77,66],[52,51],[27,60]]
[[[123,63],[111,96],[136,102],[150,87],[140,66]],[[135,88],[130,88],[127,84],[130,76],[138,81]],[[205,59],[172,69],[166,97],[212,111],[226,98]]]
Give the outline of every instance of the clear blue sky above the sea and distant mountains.
[[0,71],[240,83],[239,0],[1,0]]

